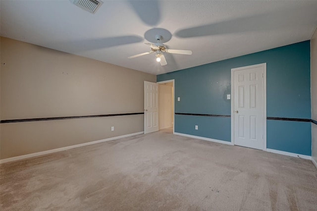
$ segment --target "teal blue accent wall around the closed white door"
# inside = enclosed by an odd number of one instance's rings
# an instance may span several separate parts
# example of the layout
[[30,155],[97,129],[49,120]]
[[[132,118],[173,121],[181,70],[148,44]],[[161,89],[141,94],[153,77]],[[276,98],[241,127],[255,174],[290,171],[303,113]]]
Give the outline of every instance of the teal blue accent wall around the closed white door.
[[[157,81],[175,79],[176,113],[230,115],[231,68],[260,63],[266,63],[267,116],[311,118],[310,41],[161,74]],[[267,120],[267,148],[311,156],[307,131],[308,122]],[[175,115],[175,132],[231,141],[231,120]]]

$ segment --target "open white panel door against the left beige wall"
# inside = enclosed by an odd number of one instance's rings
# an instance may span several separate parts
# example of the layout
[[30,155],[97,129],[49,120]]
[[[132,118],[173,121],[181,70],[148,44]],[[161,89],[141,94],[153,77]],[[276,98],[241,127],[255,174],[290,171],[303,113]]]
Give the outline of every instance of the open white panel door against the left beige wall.
[[159,85],[144,82],[144,133],[159,131]]

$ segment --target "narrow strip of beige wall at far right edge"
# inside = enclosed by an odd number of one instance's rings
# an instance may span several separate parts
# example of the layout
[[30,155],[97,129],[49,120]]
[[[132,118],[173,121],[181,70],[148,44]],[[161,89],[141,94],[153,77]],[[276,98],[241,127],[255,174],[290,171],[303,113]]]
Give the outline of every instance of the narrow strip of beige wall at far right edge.
[[[311,39],[312,119],[317,121],[317,30]],[[312,123],[312,159],[317,167],[317,125]]]

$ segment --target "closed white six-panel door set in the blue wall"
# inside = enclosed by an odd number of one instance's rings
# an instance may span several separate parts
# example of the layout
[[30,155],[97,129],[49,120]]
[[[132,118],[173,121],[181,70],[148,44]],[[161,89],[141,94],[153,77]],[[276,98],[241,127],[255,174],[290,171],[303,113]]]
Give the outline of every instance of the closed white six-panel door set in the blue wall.
[[266,149],[265,73],[265,63],[231,69],[233,78],[231,132],[234,145]]

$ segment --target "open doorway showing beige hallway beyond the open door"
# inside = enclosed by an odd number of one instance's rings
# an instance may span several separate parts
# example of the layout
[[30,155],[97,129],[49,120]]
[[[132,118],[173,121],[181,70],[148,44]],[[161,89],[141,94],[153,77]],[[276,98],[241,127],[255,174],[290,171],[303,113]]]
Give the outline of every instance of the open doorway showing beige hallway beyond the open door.
[[159,84],[159,130],[173,128],[174,133],[174,80]]

